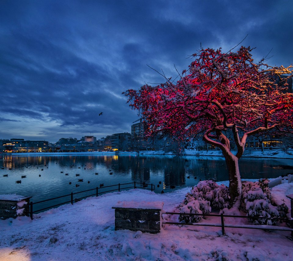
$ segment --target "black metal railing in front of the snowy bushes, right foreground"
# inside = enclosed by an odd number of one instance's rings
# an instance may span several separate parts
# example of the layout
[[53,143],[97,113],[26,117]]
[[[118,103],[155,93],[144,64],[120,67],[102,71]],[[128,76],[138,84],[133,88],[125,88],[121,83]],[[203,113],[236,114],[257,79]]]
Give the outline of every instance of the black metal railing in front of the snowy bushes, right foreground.
[[[284,218],[267,218],[267,217],[251,217],[251,216],[233,216],[233,215],[224,215],[224,214],[193,214],[193,213],[177,213],[177,212],[165,212],[162,213],[162,216],[165,214],[169,215],[189,215],[189,216],[204,216],[204,217],[219,217],[221,219],[221,223],[179,223],[179,222],[167,222],[163,221],[162,224],[170,224],[170,225],[179,225],[179,226],[216,226],[222,228],[222,235],[225,235],[225,227],[234,227],[234,228],[248,228],[248,229],[264,229],[264,230],[283,230],[283,231],[291,231],[291,237],[293,237],[293,219],[284,219]],[[269,225],[238,225],[238,224],[226,224],[224,223],[224,218],[249,218],[249,219],[271,219],[271,220],[282,220],[282,222],[286,222],[289,227],[284,226],[269,226]]]

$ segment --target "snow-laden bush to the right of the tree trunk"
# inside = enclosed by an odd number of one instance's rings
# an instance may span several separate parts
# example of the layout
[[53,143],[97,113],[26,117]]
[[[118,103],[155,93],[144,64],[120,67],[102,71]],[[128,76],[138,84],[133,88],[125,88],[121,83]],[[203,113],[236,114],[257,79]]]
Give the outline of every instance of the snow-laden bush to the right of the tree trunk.
[[[268,183],[267,179],[258,182],[242,182],[242,208],[247,213],[248,221],[252,224],[276,225],[280,220],[272,218],[287,217],[288,207],[286,205],[273,205]],[[263,218],[254,219],[258,217]]]

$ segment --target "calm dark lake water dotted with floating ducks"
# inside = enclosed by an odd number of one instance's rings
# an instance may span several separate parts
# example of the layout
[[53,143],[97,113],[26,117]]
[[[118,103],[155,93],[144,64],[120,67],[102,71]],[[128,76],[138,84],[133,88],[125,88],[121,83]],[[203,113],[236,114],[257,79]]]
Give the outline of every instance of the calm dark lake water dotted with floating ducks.
[[[175,186],[175,189],[194,186],[200,179],[228,180],[224,158],[208,156],[4,155],[0,156],[0,165],[4,168],[0,169],[0,194],[32,196],[31,201],[34,202],[93,189],[101,183],[110,186],[134,181],[146,182],[154,184],[155,192],[161,193],[162,190],[173,190],[170,186]],[[293,160],[287,159],[241,158],[239,161],[241,178],[276,178],[292,173],[292,166]],[[99,174],[96,175],[96,172]],[[110,175],[110,172],[113,175]],[[66,173],[68,175],[65,175]],[[8,177],[3,177],[6,174]],[[26,175],[26,178],[21,178],[22,175]],[[78,179],[83,179],[83,182],[78,182]],[[16,180],[21,180],[21,184],[16,184]],[[161,185],[157,187],[159,181]],[[76,184],[80,186],[76,187]],[[94,194],[95,191],[88,192],[88,195],[89,193]],[[75,197],[82,196],[77,194]],[[68,200],[70,197],[50,202],[49,205]],[[44,203],[42,207],[47,205]]]

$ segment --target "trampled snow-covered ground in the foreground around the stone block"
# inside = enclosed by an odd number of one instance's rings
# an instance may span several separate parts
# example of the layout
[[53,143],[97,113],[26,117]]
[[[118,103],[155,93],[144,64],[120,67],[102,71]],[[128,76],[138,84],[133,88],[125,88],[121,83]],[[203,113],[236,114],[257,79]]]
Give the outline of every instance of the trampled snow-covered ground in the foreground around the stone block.
[[[173,211],[190,189],[132,189],[63,205],[32,221],[0,220],[0,260],[293,260],[288,231],[226,228],[221,236],[221,228],[202,226],[164,225],[158,234],[114,230],[118,201],[163,201],[163,210]],[[293,183],[272,189],[274,199],[286,203],[291,193]]]

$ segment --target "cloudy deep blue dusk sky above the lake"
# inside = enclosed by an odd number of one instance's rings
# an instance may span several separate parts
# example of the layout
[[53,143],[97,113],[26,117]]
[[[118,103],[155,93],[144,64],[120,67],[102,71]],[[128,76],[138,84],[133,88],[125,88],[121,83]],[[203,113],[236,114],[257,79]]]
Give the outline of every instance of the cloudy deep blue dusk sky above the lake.
[[247,35],[255,61],[289,66],[292,11],[285,0],[0,0],[0,139],[131,132],[139,117],[122,92],[163,83],[150,67],[176,78],[201,45],[228,51]]

